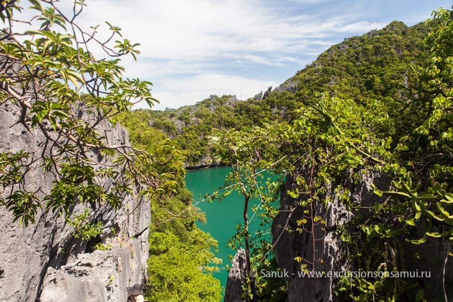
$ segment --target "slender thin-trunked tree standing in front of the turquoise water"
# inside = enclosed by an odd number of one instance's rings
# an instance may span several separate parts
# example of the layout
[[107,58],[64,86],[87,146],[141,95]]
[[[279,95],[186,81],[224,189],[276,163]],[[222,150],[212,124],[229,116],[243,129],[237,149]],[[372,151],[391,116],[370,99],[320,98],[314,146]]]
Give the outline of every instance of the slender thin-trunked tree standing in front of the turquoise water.
[[[277,212],[274,202],[278,198],[280,185],[285,176],[279,169],[279,164],[285,160],[286,155],[278,153],[278,148],[286,141],[281,136],[283,129],[285,127],[278,125],[268,125],[267,128],[254,127],[244,131],[214,129],[210,136],[212,144],[216,147],[215,160],[228,163],[232,168],[223,187],[211,198],[220,201],[233,191],[244,196],[242,208],[244,222],[237,225],[237,234],[229,240],[229,246],[233,250],[243,246],[245,250],[247,282],[243,284],[242,293],[245,301],[256,300],[257,297],[263,297],[269,292],[275,296],[281,294],[281,280],[272,282],[251,273],[252,269],[260,271],[260,268],[273,266],[276,269],[276,267],[272,261],[270,239],[266,236],[268,232],[256,230],[257,235],[253,235],[249,230],[248,211],[252,208],[254,215],[260,211],[257,214],[261,218],[260,225],[270,228],[272,218]],[[253,199],[255,204],[251,206]]]

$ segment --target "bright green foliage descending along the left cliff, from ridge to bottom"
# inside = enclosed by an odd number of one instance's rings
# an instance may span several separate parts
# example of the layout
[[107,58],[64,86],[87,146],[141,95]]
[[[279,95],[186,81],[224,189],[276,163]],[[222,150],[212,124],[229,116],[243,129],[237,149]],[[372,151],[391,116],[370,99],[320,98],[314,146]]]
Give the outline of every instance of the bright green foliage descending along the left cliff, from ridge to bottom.
[[[175,148],[179,146],[159,130],[149,127],[149,119],[149,112],[143,110],[111,118],[128,129],[134,147],[164,160],[163,146],[169,143]],[[172,170],[173,164],[159,166],[157,171],[166,173]],[[212,253],[217,249],[217,242],[197,228],[195,221],[204,221],[204,216],[191,205],[192,194],[185,188],[182,175],[176,181],[174,196],[150,200],[152,222],[145,296],[149,301],[218,301],[220,284],[211,274],[221,263]]]

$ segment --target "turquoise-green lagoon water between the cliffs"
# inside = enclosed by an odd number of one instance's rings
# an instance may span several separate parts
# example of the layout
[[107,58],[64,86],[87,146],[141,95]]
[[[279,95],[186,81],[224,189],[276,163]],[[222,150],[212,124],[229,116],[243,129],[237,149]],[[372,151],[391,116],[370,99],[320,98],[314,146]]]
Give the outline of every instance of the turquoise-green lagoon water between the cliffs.
[[[209,168],[209,169],[198,169],[189,171],[186,173],[185,181],[186,187],[189,191],[193,191],[194,203],[199,201],[198,197],[201,195],[204,198],[205,194],[211,194],[218,187],[223,185],[225,176],[230,173],[231,168]],[[252,217],[253,212],[250,210],[252,202],[249,202],[249,231],[257,230],[259,228],[259,218]],[[197,226],[202,231],[211,234],[211,236],[218,241],[218,253],[216,257],[222,259],[223,263],[220,267],[219,272],[214,273],[214,277],[220,280],[220,285],[226,286],[226,278],[228,278],[228,272],[226,272],[225,265],[231,265],[228,260],[229,255],[235,254],[227,247],[228,240],[236,234],[236,225],[244,223],[243,219],[243,208],[244,208],[244,196],[233,192],[222,201],[200,202],[196,205],[205,212],[206,223],[203,224],[197,221]]]

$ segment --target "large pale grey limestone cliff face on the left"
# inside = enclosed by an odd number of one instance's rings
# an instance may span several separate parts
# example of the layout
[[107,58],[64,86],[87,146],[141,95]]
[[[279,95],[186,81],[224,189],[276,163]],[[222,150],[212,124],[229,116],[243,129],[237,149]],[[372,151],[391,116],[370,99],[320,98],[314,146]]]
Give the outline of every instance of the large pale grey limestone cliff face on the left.
[[[15,124],[17,112],[11,104],[0,107],[1,152],[33,152],[42,146],[44,137],[39,131],[30,133]],[[109,144],[129,143],[128,133],[120,125],[112,127],[104,122],[98,131]],[[100,154],[89,156],[102,159]],[[38,161],[27,176],[27,190],[40,183],[44,190],[50,188],[40,164]],[[72,213],[83,210],[77,205]],[[125,194],[117,211],[99,204],[91,205],[91,211],[94,220],[103,222],[104,231],[96,240],[86,242],[71,236],[72,226],[51,211],[41,210],[35,224],[25,228],[17,221],[13,223],[12,214],[0,206],[0,301],[125,301],[126,287],[144,278],[149,202]],[[114,233],[110,232],[112,228]],[[111,248],[93,251],[98,242]]]

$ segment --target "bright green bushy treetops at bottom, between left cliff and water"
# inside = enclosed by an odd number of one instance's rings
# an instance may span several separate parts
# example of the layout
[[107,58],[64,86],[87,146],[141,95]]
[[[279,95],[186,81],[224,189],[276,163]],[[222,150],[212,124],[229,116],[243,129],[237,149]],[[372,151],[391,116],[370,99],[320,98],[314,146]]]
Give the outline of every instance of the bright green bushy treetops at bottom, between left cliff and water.
[[204,217],[191,201],[182,184],[163,206],[152,203],[145,291],[150,301],[220,300],[220,283],[211,274],[221,263],[212,253],[217,242],[196,227],[195,220]]

